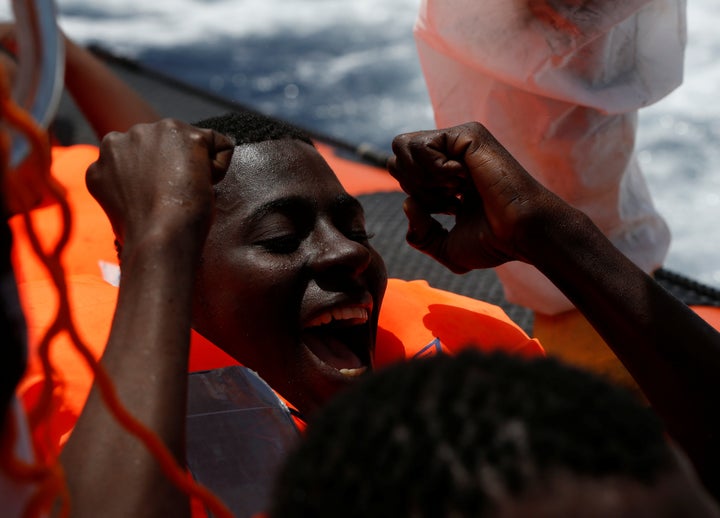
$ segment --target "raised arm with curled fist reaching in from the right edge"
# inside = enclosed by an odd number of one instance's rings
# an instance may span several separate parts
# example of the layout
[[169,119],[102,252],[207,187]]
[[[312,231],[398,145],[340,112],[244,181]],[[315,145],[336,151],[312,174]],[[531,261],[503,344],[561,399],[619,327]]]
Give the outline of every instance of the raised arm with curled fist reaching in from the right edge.
[[[720,496],[720,334],[542,187],[480,124],[398,136],[408,242],[461,273],[535,265],[585,315]],[[433,213],[455,215],[443,229]]]

